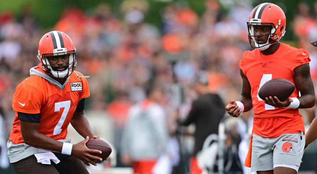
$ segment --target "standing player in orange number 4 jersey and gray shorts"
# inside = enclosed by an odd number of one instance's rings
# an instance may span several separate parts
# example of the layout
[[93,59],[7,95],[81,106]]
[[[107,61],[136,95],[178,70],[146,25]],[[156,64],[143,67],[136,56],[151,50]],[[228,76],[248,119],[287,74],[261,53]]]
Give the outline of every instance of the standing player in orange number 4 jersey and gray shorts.
[[[299,108],[315,103],[314,85],[309,71],[309,55],[279,40],[285,34],[286,17],[273,3],[262,3],[251,12],[249,41],[252,51],[240,61],[241,96],[226,106],[228,114],[238,117],[254,109],[254,122],[245,166],[258,174],[295,174],[304,151],[304,121]],[[286,101],[258,96],[261,86],[273,78],[285,78],[296,84]],[[301,93],[301,96],[299,95]],[[289,143],[289,144],[285,144]],[[288,145],[287,149],[283,149]]]

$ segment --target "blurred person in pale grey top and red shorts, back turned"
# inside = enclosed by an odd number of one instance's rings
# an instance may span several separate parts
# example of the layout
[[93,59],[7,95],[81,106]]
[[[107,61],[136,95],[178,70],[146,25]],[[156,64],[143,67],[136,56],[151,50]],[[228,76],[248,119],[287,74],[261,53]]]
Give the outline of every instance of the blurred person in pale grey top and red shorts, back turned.
[[167,125],[158,104],[163,93],[157,87],[147,89],[147,99],[129,109],[122,139],[121,160],[132,163],[135,173],[152,173],[159,157],[167,152]]

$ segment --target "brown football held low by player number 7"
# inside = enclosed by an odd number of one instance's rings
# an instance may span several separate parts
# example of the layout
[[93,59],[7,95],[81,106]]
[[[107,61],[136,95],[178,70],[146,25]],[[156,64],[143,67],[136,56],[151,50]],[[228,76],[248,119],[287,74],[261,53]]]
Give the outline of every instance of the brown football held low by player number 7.
[[[102,158],[102,161],[106,160],[112,152],[110,145],[103,140],[100,139],[89,139],[86,143],[86,146],[89,149],[100,150],[102,153],[92,153],[92,155]],[[100,162],[100,161],[98,161]]]

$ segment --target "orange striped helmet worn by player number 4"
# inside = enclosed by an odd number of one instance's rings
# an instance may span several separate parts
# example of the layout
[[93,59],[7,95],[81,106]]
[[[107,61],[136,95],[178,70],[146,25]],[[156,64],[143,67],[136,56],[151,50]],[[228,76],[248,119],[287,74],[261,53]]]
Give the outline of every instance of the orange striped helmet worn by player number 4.
[[[272,30],[269,35],[269,39],[265,44],[257,44],[256,37],[263,35],[254,34],[254,26],[266,25],[272,26]],[[248,36],[251,47],[258,48],[259,50],[265,50],[270,45],[279,41],[285,34],[286,17],[284,11],[273,3],[262,3],[254,8],[250,14],[248,26]],[[255,46],[252,45],[252,40]]]

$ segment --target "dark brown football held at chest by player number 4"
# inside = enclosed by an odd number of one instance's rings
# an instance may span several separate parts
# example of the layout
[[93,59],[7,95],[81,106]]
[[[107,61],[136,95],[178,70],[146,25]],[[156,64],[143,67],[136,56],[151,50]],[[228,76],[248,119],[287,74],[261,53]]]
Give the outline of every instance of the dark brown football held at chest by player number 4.
[[265,97],[276,96],[281,102],[288,99],[295,90],[295,85],[284,78],[274,78],[267,81],[259,90],[259,97],[265,100]]

